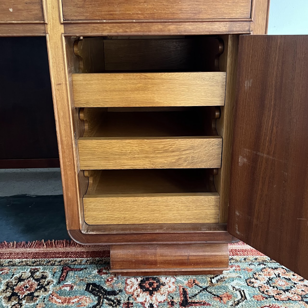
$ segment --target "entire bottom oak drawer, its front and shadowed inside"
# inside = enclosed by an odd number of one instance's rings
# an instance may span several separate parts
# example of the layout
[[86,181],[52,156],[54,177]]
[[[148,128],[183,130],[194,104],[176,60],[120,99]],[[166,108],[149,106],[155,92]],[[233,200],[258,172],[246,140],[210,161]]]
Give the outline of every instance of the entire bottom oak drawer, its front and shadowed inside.
[[220,197],[211,169],[86,172],[89,225],[218,222]]

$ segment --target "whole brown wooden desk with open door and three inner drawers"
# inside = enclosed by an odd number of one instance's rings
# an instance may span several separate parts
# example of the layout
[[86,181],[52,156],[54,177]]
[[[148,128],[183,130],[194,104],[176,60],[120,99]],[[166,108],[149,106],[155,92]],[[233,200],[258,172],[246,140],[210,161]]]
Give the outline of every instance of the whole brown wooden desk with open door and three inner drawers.
[[0,35],[46,34],[75,241],[110,244],[118,274],[214,274],[239,238],[308,277],[294,239],[306,229],[276,232],[308,219],[306,167],[291,150],[293,132],[307,132],[306,37],[240,35],[266,33],[267,0],[46,0],[31,12],[0,15]]

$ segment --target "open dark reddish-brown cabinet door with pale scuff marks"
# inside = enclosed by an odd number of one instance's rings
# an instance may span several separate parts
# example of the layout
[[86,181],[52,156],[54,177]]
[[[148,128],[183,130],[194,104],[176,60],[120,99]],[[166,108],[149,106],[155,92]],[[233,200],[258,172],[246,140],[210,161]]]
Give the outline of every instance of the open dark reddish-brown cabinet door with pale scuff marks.
[[228,231],[308,279],[308,35],[242,35]]

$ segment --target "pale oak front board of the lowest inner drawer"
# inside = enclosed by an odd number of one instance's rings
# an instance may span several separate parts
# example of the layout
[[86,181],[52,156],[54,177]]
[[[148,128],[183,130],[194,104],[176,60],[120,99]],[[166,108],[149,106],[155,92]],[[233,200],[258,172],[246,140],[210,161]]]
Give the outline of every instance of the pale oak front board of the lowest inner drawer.
[[85,195],[89,225],[217,223],[218,193]]

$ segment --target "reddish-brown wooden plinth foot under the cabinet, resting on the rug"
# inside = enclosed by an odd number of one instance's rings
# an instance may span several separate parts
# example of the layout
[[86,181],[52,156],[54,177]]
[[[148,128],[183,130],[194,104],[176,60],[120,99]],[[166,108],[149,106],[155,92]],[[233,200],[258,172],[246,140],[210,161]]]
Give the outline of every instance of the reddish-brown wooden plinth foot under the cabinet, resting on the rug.
[[227,244],[112,245],[110,265],[112,273],[137,276],[221,273],[229,269],[229,249]]

